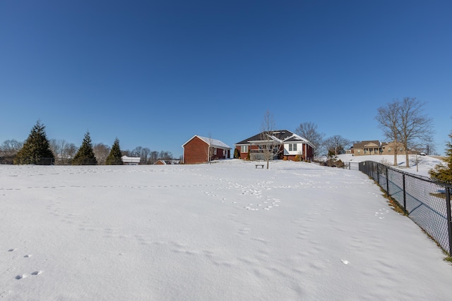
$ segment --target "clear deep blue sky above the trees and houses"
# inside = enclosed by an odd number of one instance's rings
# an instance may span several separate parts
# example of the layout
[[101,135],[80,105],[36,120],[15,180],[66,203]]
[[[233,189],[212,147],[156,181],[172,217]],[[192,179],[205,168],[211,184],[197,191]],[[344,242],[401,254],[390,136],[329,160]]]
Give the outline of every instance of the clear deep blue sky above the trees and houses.
[[313,122],[384,140],[376,109],[416,97],[452,130],[451,1],[0,1],[0,143],[49,138],[182,155]]

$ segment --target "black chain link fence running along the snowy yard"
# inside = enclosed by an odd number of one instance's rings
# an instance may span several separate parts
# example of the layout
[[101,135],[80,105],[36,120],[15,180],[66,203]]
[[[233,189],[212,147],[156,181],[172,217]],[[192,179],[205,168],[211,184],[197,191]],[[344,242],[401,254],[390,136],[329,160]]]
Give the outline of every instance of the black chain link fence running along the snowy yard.
[[359,171],[379,183],[412,221],[448,254],[452,254],[452,185],[404,173],[374,161],[360,162]]

